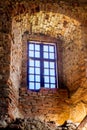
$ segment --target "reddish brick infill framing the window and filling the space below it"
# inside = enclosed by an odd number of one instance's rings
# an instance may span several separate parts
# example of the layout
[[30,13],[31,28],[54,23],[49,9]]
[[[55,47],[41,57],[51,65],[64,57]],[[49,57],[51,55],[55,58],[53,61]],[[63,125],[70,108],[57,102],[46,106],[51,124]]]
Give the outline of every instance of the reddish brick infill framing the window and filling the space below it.
[[[69,97],[69,93],[67,92],[67,88],[63,85],[62,78],[62,41],[56,39],[55,37],[50,37],[49,35],[44,34],[29,34],[29,32],[25,32],[22,37],[22,81],[21,87],[19,91],[19,108],[24,115],[24,117],[38,117],[42,120],[46,121],[56,121],[57,123],[63,123],[64,120],[68,119],[69,116],[69,107],[67,106],[66,100]],[[58,70],[60,70],[58,74],[58,88],[57,89],[46,89],[41,88],[40,91],[34,92],[28,90],[27,86],[27,41],[35,40],[35,41],[46,41],[57,44],[57,49],[60,57],[58,56]],[[57,73],[58,73],[57,70]],[[60,89],[59,89],[60,88]],[[62,89],[63,88],[63,89]],[[65,89],[64,89],[65,88]],[[26,104],[27,103],[27,104]],[[66,106],[66,108],[65,108]],[[62,119],[60,121],[61,116]],[[63,114],[62,114],[63,113]],[[66,113],[66,115],[65,115]],[[65,117],[64,117],[65,116]]]

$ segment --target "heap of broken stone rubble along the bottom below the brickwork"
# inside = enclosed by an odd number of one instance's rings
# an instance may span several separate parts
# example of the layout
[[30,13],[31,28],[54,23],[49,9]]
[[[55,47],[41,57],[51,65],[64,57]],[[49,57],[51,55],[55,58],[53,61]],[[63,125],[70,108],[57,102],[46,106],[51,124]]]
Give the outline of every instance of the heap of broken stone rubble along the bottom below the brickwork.
[[6,127],[1,129],[6,130],[76,130],[77,125],[72,123],[72,121],[65,121],[63,125],[58,126],[55,122],[41,121],[38,118],[28,118],[28,119],[16,119],[8,124]]

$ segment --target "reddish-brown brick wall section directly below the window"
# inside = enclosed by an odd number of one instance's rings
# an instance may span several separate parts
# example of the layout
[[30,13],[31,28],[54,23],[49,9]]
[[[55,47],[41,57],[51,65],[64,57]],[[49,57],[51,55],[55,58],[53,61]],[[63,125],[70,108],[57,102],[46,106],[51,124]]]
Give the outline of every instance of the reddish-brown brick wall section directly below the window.
[[66,99],[66,90],[41,88],[39,92],[34,92],[24,87],[20,89],[19,102],[22,114],[26,118],[38,117],[45,121],[63,123],[64,117],[60,121],[60,113],[67,113],[65,119],[69,116]]

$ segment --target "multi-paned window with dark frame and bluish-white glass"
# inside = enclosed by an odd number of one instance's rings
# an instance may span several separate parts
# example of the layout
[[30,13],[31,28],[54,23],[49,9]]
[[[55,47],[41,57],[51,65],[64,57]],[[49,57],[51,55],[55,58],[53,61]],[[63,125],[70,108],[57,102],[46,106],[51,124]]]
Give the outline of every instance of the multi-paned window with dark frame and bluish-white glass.
[[28,89],[56,88],[56,46],[53,43],[28,42]]

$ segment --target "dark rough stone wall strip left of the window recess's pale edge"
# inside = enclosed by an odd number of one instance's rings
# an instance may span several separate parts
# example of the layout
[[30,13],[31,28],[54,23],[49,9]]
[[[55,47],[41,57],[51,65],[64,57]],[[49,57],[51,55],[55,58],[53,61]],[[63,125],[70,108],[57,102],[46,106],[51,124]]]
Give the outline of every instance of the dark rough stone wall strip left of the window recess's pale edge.
[[7,13],[7,5],[0,1],[0,119],[8,113],[11,50],[11,15]]

